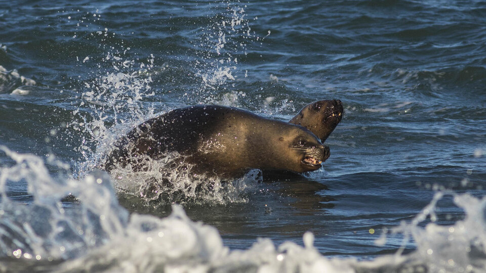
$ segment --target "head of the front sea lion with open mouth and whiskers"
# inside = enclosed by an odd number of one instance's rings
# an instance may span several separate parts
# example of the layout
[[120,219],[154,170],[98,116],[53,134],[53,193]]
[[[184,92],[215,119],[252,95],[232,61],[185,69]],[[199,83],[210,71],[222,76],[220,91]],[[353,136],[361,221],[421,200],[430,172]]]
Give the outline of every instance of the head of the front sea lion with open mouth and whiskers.
[[287,154],[286,158],[291,158],[286,162],[286,169],[295,172],[314,171],[321,167],[321,163],[326,161],[330,156],[330,150],[327,145],[323,145],[317,136],[309,130],[295,126],[292,135],[279,139],[288,149],[282,149]]

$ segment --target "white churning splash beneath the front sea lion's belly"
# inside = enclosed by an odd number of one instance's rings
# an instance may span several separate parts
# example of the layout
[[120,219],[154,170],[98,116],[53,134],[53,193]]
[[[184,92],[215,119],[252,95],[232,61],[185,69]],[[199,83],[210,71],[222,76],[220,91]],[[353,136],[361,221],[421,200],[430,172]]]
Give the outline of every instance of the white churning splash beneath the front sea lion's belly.
[[145,158],[145,168],[133,171],[131,165],[112,170],[118,191],[138,196],[147,206],[170,203],[225,204],[247,202],[245,193],[262,180],[261,172],[250,171],[239,179],[222,180],[194,174],[194,165],[186,163],[177,152],[153,160]]

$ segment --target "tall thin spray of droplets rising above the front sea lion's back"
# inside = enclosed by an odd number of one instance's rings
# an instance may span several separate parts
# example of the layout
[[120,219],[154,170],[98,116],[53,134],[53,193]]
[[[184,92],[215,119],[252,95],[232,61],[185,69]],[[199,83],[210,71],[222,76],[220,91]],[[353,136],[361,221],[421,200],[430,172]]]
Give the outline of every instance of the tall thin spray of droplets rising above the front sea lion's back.
[[248,70],[240,70],[239,59],[245,59],[249,45],[264,40],[270,31],[264,37],[253,31],[250,24],[258,18],[248,18],[247,6],[239,1],[222,5],[224,11],[214,16],[212,23],[202,28],[200,37],[192,42],[202,52],[193,62],[200,86],[183,98],[191,103],[242,107],[239,101],[249,98],[237,91],[236,85],[248,77]]

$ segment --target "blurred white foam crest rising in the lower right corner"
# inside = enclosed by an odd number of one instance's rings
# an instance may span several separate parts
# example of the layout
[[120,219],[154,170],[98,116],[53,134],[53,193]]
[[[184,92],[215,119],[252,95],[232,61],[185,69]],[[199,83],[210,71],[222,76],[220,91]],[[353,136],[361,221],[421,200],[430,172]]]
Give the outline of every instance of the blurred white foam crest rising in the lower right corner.
[[[452,196],[454,203],[465,212],[463,220],[454,224],[438,224],[438,202]],[[409,223],[401,223],[391,230],[392,234],[402,233],[402,248],[410,239],[417,249],[409,255],[401,255],[400,249],[393,257],[383,256],[372,265],[375,268],[421,268],[431,272],[479,272],[486,269],[486,221],[484,209],[486,198],[478,199],[470,194],[437,192],[432,201]],[[425,226],[423,223],[427,222]],[[385,230],[386,234],[386,230]],[[377,241],[382,245],[386,236]],[[361,266],[361,265],[359,265]]]

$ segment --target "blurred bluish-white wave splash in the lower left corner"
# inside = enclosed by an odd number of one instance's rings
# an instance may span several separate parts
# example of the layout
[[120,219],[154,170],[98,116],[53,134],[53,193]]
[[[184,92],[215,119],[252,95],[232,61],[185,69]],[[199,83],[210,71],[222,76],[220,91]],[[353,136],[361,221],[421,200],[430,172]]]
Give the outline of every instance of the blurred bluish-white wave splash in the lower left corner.
[[14,161],[0,169],[3,256],[69,259],[124,233],[128,212],[117,204],[106,174],[52,177],[43,159],[0,150]]

